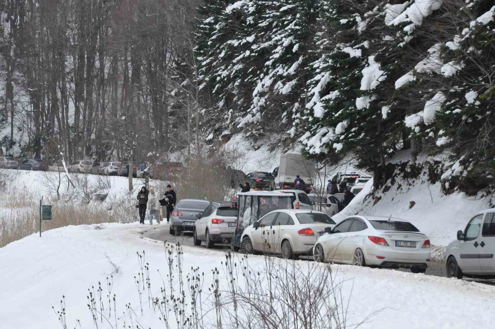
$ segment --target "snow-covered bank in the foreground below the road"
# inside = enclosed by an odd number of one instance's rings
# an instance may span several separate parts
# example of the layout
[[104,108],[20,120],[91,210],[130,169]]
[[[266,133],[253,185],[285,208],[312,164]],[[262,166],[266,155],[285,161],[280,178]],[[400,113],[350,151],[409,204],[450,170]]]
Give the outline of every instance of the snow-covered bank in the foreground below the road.
[[[73,328],[76,319],[82,328],[96,328],[88,308],[88,304],[93,306],[93,303],[88,301],[87,296],[88,289],[93,292],[94,287],[98,313],[99,282],[102,287],[102,313],[109,318],[109,322],[99,319],[98,328],[116,328],[115,323],[121,328],[124,321],[127,326],[132,321],[133,328],[137,324],[139,328],[166,328],[159,320],[162,315],[148,304],[147,289],[141,291],[141,314],[136,289],[135,277],[142,272],[137,252],[143,254],[143,250],[146,252],[144,262],[149,266],[150,293],[160,296],[160,287],[167,286],[169,280],[163,243],[141,238],[139,234],[147,228],[137,223],[67,226],[45,232],[42,238],[33,234],[0,248],[3,278],[0,281],[0,328],[59,328],[54,311],[60,309],[62,296],[65,296],[67,328]],[[236,262],[238,256],[242,257],[236,254]],[[199,267],[197,273],[204,273],[204,276],[199,275],[203,282],[200,304],[205,313],[203,328],[215,328],[213,296],[208,287],[215,279],[212,270],[218,268],[220,290],[227,289],[229,281],[221,264],[222,261],[225,264],[225,255],[219,250],[184,247],[182,257],[186,312],[191,310],[190,281],[186,275],[191,273],[193,267]],[[177,258],[173,258],[176,262]],[[285,263],[275,258],[275,263],[278,262]],[[252,273],[261,272],[263,275],[265,260],[262,256],[249,256],[247,264]],[[287,266],[289,270],[292,266],[303,270],[311,266],[318,266],[320,270],[324,267],[305,261],[290,262]],[[146,277],[146,269],[144,272]],[[244,282],[239,272],[239,280]],[[493,323],[491,305],[495,302],[494,286],[355,266],[332,265],[332,273],[333,282],[342,288],[342,307],[347,310],[346,328],[354,328],[353,325],[363,321],[359,328],[425,328],[426,325],[427,328],[465,329],[489,328]],[[172,274],[173,286],[178,289],[180,274],[175,266]],[[110,292],[107,278],[113,282]],[[176,290],[175,294],[178,293]],[[227,294],[222,293],[224,295]],[[108,310],[109,299],[111,311]],[[332,304],[333,300],[329,297],[327,303]],[[127,308],[128,305],[133,311]],[[111,317],[108,317],[109,312]],[[173,312],[170,314],[173,318],[172,315]],[[225,323],[228,321],[225,319]],[[176,328],[173,321],[170,328]]]

